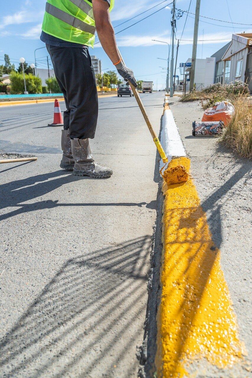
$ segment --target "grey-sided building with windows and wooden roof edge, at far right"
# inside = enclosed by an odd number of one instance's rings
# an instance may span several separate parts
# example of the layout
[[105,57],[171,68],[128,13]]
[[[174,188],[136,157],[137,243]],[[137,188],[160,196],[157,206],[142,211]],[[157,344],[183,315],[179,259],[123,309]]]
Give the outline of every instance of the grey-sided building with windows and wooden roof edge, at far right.
[[232,34],[232,41],[222,56],[223,83],[247,82],[252,92],[252,34]]

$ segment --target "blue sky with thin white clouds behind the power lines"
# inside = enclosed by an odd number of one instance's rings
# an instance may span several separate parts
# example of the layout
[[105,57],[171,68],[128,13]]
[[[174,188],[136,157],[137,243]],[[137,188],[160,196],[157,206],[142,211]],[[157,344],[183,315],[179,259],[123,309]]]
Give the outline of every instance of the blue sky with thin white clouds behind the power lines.
[[[115,8],[111,13],[112,23],[115,27],[121,22],[161,2],[162,0],[115,0]],[[213,19],[231,22],[227,2],[233,23],[252,23],[251,0],[243,0],[240,3],[233,0],[212,0],[211,3],[208,0],[201,0],[200,14],[212,17]],[[166,3],[168,4],[169,1]],[[116,27],[115,31],[120,31],[142,19],[146,15],[162,8],[166,3],[157,6],[124,25]],[[241,3],[242,6],[239,6]],[[176,8],[188,10],[189,4],[190,0],[177,0]],[[196,0],[191,0],[190,12],[195,12],[195,5]],[[0,15],[1,63],[3,63],[4,54],[9,54],[11,61],[15,64],[18,63],[21,56],[25,57],[27,62],[34,63],[34,50],[44,46],[44,43],[39,39],[44,8],[45,0],[24,0],[23,2],[20,2],[20,0],[9,0],[8,2],[2,2]],[[244,11],[245,9],[247,11]],[[189,14],[187,18],[184,34],[179,46],[177,67],[180,62],[185,62],[188,57],[191,57],[191,40],[193,39],[194,28],[193,17],[193,14]],[[128,67],[134,70],[136,78],[153,81],[154,87],[156,88],[157,85],[158,89],[162,88],[162,85],[165,84],[166,74],[166,71],[159,66],[166,67],[166,62],[157,58],[167,59],[168,46],[165,43],[152,42],[152,39],[170,43],[170,19],[171,9],[167,6],[167,8],[162,9],[160,12],[117,35],[117,43],[121,54]],[[177,20],[176,36],[178,39],[181,38],[185,19],[186,13]],[[212,23],[215,25],[212,25]],[[233,26],[236,33],[243,31],[249,33],[252,31],[252,26],[235,24]],[[233,26],[232,23],[224,23],[201,17],[199,22],[197,57],[209,57],[225,45],[231,39],[232,33],[234,33]],[[203,51],[202,42],[200,41],[202,39],[204,39]],[[174,51],[176,51],[176,46]],[[104,71],[114,69],[110,59],[99,45],[93,51],[90,49],[90,54],[95,54],[102,60]],[[46,68],[46,55],[46,49],[41,49],[37,52],[36,56],[40,60],[38,67]],[[179,69],[177,69],[176,74],[179,74]]]

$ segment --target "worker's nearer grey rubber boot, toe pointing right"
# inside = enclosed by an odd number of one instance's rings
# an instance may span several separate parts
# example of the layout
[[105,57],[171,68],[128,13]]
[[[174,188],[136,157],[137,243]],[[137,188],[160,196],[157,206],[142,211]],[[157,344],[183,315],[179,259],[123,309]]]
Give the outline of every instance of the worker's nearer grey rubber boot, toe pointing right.
[[75,176],[89,176],[93,178],[110,177],[112,169],[101,167],[94,162],[91,153],[89,139],[71,139],[72,153],[75,160],[73,174]]

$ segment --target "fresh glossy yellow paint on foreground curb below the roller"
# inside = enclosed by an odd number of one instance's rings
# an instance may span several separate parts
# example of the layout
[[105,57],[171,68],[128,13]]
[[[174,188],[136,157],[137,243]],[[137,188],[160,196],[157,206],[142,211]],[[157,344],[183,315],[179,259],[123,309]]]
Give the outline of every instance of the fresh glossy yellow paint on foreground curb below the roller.
[[187,364],[202,358],[219,368],[232,367],[245,353],[220,251],[198,193],[191,178],[182,184],[164,183],[163,193],[157,376],[188,377]]

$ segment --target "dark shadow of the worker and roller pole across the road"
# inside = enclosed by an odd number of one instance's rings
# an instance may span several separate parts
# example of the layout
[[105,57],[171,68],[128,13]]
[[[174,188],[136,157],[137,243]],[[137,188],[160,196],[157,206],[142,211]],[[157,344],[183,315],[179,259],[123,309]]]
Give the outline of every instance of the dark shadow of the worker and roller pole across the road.
[[62,185],[69,184],[72,181],[78,180],[95,180],[89,177],[76,177],[64,170],[57,170],[55,172],[49,172],[46,174],[36,175],[28,177],[22,180],[14,180],[10,183],[0,185],[0,195],[2,201],[0,203],[0,209],[15,208],[6,214],[0,215],[0,221],[5,220],[15,215],[31,212],[35,210],[51,209],[58,206],[145,206],[148,209],[156,209],[156,201],[150,203],[140,202],[119,202],[119,203],[59,203],[58,200],[42,200],[34,203],[23,203],[34,198],[39,198],[48,194]]

